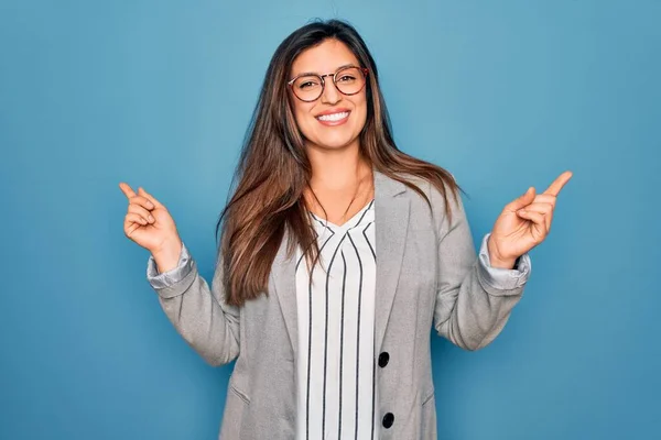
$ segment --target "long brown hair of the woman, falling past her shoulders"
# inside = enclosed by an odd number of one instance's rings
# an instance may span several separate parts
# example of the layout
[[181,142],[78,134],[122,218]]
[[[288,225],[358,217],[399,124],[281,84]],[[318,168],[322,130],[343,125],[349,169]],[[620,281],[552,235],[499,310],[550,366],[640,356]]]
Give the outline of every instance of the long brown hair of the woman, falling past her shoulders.
[[361,67],[369,69],[367,120],[359,140],[361,154],[373,169],[412,188],[427,204],[424,193],[407,176],[430,182],[444,196],[448,215],[445,187],[455,197],[460,190],[448,172],[401,152],[394,144],[377,65],[358,32],[339,20],[306,24],[289,35],[271,58],[234,176],[236,189],[216,226],[216,235],[221,228],[219,264],[228,304],[241,306],[267,294],[271,265],[285,231],[294,239],[289,241],[289,255],[297,243],[308,261],[316,262],[318,256],[303,197],[312,167],[290,107],[286,81],[296,56],[327,38],[346,44]]

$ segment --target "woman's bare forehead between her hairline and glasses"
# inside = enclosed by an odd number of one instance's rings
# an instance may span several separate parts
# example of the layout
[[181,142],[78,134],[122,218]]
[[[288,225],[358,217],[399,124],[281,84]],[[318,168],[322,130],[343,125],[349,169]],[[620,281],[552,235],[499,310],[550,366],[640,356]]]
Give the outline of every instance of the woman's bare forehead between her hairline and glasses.
[[317,46],[303,51],[292,64],[292,76],[302,73],[329,74],[346,65],[358,66],[358,58],[338,40],[325,40]]

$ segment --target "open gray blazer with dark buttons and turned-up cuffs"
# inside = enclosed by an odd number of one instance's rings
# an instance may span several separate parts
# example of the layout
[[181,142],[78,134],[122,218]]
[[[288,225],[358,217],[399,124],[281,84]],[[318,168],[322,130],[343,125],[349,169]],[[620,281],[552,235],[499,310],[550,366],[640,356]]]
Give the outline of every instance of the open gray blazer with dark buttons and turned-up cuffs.
[[[521,298],[528,254],[514,270],[490,267],[486,241],[476,255],[462,199],[412,179],[427,197],[375,170],[377,288],[375,356],[384,424],[380,439],[436,439],[430,330],[477,350],[501,331]],[[449,194],[449,193],[448,193]],[[225,302],[220,265],[212,287],[183,249],[178,267],[159,274],[153,257],[148,279],[178,333],[212,365],[236,359],[219,439],[294,439],[296,426],[296,293],[285,234],[269,277],[269,295],[237,308]],[[378,365],[378,363],[377,363]],[[389,426],[389,428],[386,428]]]

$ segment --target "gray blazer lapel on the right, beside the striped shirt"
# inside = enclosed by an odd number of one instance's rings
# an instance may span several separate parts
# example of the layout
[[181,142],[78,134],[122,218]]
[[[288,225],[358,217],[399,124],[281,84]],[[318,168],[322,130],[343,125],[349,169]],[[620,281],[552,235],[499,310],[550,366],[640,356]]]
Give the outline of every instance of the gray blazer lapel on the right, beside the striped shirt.
[[398,197],[407,186],[375,170],[375,232],[377,253],[377,283],[375,310],[375,350],[383,342],[386,326],[392,309],[399,280],[407,230],[409,198]]

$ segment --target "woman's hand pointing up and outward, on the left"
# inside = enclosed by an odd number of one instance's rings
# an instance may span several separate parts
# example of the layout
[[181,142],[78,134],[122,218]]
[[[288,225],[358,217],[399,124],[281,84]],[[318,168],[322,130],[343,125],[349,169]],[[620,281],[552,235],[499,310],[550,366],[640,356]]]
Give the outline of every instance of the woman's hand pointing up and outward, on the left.
[[167,209],[142,187],[136,194],[122,182],[119,188],[129,199],[123,223],[124,234],[150,251],[154,258],[160,256],[160,260],[177,260],[182,241]]

